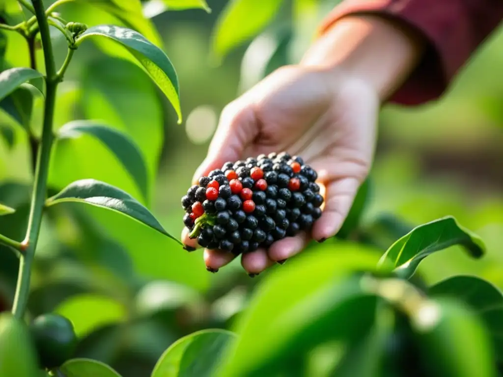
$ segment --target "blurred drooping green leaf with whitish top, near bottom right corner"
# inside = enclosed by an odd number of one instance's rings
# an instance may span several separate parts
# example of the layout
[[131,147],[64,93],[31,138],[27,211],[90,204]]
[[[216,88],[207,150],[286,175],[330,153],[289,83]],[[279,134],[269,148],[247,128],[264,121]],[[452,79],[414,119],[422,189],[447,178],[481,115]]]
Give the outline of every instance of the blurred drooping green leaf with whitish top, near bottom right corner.
[[489,333],[462,302],[438,298],[415,313],[417,350],[427,375],[495,377]]

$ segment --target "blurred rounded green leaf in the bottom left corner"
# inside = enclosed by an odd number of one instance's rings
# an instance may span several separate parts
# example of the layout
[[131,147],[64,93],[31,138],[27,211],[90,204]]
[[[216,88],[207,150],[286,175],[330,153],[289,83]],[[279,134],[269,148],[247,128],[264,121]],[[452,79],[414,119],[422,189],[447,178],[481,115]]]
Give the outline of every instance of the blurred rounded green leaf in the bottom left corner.
[[10,312],[0,313],[0,376],[33,377],[38,360],[26,323]]

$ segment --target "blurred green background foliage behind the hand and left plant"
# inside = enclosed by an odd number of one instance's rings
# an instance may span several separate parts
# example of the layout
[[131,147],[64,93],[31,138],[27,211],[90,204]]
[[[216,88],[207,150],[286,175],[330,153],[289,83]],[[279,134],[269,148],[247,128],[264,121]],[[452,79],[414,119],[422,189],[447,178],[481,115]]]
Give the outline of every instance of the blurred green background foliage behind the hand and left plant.
[[[82,45],[58,88],[55,127],[73,119],[99,119],[127,132],[146,161],[148,195],[141,195],[105,146],[87,136],[57,143],[51,190],[82,178],[106,181],[129,192],[178,236],[183,227],[180,198],[205,156],[222,108],[272,70],[298,61],[319,21],[336,4],[268,1],[265,8],[271,9],[264,12],[259,7],[251,13],[237,10],[243,16],[237,44],[229,38],[236,37],[232,32],[239,23],[218,21],[222,11],[228,12],[224,0],[208,1],[211,13],[162,12],[160,2],[144,2],[144,17],[110,14],[92,2],[61,6],[58,11],[66,20],[125,25],[161,46],[179,75],[184,122],[177,124],[169,102],[123,50],[107,41]],[[227,34],[215,38],[215,28]],[[487,244],[487,255],[477,261],[459,247],[429,257],[418,274],[429,284],[467,273],[503,288],[502,31],[481,46],[441,100],[415,108],[385,105],[380,116],[367,206],[349,238],[382,253],[411,227],[453,215]],[[54,41],[61,63],[66,43],[56,32]],[[29,66],[21,36],[9,34],[6,62]],[[43,70],[40,50],[37,63]],[[31,127],[37,134],[41,116],[42,99],[35,96]],[[20,240],[32,179],[29,141],[5,112],[0,131],[0,202],[17,210],[0,216],[0,232]],[[337,253],[340,242],[329,240],[322,247]],[[306,253],[319,247],[310,245]],[[289,263],[271,270],[279,268],[288,269]],[[0,250],[0,311],[10,309],[17,271],[17,258]],[[64,314],[80,337],[78,356],[136,377],[148,375],[181,336],[208,327],[231,329],[268,273],[250,279],[235,260],[211,274],[200,251],[188,253],[120,214],[65,204],[45,214],[29,311],[30,316]]]

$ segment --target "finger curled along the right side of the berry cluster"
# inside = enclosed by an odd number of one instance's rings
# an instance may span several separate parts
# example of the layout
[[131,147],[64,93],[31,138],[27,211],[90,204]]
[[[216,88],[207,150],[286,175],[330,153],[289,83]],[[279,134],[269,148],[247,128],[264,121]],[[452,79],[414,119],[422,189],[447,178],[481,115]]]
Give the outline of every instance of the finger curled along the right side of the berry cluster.
[[323,241],[337,234],[348,216],[359,187],[360,180],[353,177],[334,180],[326,186],[323,213],[314,223],[311,232],[313,239]]

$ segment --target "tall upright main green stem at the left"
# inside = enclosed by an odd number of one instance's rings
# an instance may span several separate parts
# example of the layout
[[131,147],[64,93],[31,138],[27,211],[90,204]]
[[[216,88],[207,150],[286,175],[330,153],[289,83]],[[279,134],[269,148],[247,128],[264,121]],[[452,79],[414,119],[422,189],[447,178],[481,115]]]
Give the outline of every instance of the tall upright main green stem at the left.
[[30,217],[28,219],[28,229],[25,240],[21,243],[26,248],[25,254],[21,257],[19,264],[18,285],[14,298],[13,313],[17,318],[22,318],[28,302],[30,292],[31,264],[35,256],[44,202],[47,195],[47,176],[49,173],[49,161],[51,156],[52,142],[52,120],[54,117],[54,103],[56,99],[57,76],[52,52],[49,25],[45,17],[42,0],[33,0],[33,8],[40,27],[40,37],[44,49],[44,60],[46,69],[46,98],[44,107],[44,123],[42,128],[42,141],[37,156],[37,166],[35,168],[35,182],[30,207]]

